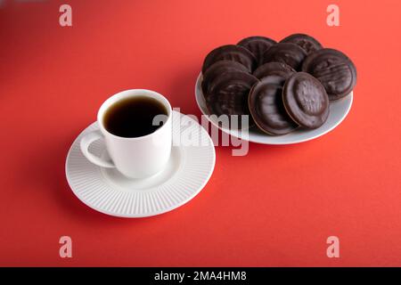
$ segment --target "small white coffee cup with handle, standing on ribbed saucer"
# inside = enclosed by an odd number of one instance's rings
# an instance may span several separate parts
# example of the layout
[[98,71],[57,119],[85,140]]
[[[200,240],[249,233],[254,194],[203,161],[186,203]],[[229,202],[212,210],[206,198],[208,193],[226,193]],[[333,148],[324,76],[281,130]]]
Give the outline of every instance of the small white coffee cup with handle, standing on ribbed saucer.
[[[160,102],[168,111],[167,118],[151,134],[138,137],[121,137],[111,134],[104,126],[105,112],[115,102],[130,97],[151,97]],[[130,178],[144,178],[160,172],[168,163],[172,145],[172,110],[168,100],[161,94],[146,89],[131,89],[111,96],[102,103],[97,113],[100,130],[86,134],[81,139],[80,148],[86,159],[99,167],[116,167],[120,173]],[[141,122],[127,122],[141,124]],[[110,160],[102,159],[89,152],[92,142],[104,139]]]

